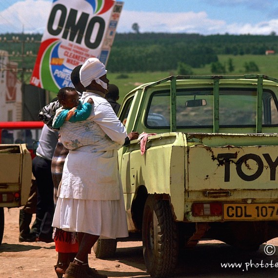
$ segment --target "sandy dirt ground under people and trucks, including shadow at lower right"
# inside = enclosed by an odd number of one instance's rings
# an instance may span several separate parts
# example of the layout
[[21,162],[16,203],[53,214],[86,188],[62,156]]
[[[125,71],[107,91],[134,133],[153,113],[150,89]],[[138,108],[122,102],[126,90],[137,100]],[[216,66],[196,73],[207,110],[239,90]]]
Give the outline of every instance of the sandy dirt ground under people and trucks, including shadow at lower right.
[[[19,238],[19,208],[5,213],[5,229],[0,246],[0,278],[57,278],[54,264],[57,252],[54,243],[22,242]],[[89,255],[89,265],[109,278],[150,278],[144,265],[140,238],[118,242],[116,257],[102,260]],[[276,247],[268,256],[262,244],[257,252],[241,253],[217,240],[205,240],[180,255],[173,277],[278,277],[278,238],[267,242]],[[271,250],[271,249],[270,249]],[[240,267],[222,267],[221,263],[242,263]],[[272,264],[276,264],[271,267]],[[248,265],[248,268],[247,268]]]

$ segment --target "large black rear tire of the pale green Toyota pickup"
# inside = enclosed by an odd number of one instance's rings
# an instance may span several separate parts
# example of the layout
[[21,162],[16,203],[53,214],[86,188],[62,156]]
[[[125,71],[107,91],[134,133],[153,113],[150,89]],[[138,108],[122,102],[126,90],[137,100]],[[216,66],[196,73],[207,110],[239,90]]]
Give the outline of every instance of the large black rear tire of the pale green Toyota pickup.
[[170,203],[149,195],[143,213],[143,255],[153,278],[171,277],[179,254],[178,227]]

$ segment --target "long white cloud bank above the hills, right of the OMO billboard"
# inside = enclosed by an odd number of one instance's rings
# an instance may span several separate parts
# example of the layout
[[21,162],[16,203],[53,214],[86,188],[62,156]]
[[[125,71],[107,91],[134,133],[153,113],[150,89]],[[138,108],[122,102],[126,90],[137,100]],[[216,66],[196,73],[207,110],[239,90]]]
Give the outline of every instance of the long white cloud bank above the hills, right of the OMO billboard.
[[117,31],[119,33],[132,32],[132,24],[139,24],[139,31],[168,32],[168,33],[199,33],[210,34],[256,34],[269,35],[278,30],[278,20],[261,21],[256,24],[233,23],[225,20],[210,19],[205,11],[194,13],[156,13],[122,11]]

